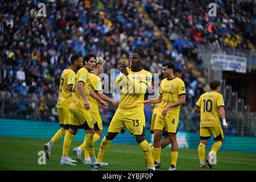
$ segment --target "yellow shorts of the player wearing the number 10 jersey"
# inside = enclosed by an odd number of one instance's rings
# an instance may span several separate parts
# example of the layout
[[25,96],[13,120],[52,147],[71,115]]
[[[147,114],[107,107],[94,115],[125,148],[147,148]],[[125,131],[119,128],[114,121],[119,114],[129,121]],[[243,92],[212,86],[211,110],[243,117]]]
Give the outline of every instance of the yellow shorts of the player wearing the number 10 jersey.
[[200,127],[200,139],[207,140],[213,135],[214,141],[224,139],[224,134],[221,126]]

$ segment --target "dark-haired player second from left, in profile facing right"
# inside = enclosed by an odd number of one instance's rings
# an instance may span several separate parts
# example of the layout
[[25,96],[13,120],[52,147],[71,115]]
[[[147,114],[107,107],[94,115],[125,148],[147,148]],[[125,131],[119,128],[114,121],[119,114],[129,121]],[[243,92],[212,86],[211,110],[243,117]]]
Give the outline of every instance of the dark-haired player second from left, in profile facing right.
[[[73,137],[76,135],[78,129],[84,129],[86,131],[85,139],[86,144],[85,148],[89,151],[90,159],[96,162],[96,156],[94,154],[93,148],[93,120],[90,116],[89,109],[89,97],[92,96],[96,98],[100,104],[104,107],[108,107],[108,104],[105,101],[102,101],[96,93],[90,89],[90,73],[96,63],[96,56],[93,54],[87,54],[84,57],[84,67],[79,69],[76,74],[74,85],[72,88],[72,100],[69,104],[70,114],[68,119],[69,132],[65,134],[64,144],[63,144],[63,155],[60,161],[60,164],[76,166],[76,164],[71,163],[68,160],[68,152],[71,146]],[[83,148],[82,150],[84,150]],[[76,155],[77,160],[81,163],[81,158],[78,153],[81,151],[73,150]]]

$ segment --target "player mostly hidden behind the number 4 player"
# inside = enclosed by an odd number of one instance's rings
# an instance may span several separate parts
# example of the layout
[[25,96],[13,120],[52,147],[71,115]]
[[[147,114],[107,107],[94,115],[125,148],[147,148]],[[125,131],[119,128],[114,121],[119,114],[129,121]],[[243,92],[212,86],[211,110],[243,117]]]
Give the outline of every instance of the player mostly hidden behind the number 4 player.
[[[174,69],[174,76],[181,79],[181,75],[182,75],[181,69],[180,68],[175,68]],[[159,90],[158,90],[158,94],[159,94]],[[156,114],[161,114],[160,111],[159,111],[159,107],[160,107],[160,103],[155,104],[154,109],[153,109],[152,119],[151,119],[151,126],[150,126],[150,133],[151,134],[154,134],[154,126],[155,126]],[[170,138],[168,136],[168,132],[166,130],[163,131],[162,136],[164,137],[164,139],[160,141],[160,143],[161,143],[161,150],[163,148],[165,148],[166,146],[168,146],[168,144],[171,143],[171,140],[170,140]],[[153,159],[155,160],[154,144],[152,144],[152,146],[151,146],[151,152],[152,152]],[[158,164],[158,165],[155,165],[155,167],[156,168],[160,168],[161,166],[160,166],[160,164]]]

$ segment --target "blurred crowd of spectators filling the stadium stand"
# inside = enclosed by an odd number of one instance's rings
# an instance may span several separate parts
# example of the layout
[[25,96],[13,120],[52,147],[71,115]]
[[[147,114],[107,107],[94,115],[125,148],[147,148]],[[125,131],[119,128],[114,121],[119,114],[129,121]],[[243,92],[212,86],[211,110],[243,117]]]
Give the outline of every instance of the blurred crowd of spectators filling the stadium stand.
[[[47,1],[46,17],[37,16],[40,2],[1,1],[0,90],[38,94],[42,120],[52,115],[44,117],[42,97],[51,94],[57,100],[61,72],[73,53],[100,55],[108,75],[111,68],[118,73],[134,49],[143,51],[144,69],[151,73],[160,73],[164,61],[174,61],[183,71],[186,105],[194,107],[205,83],[192,74],[187,61],[200,68],[199,44],[255,47],[255,5],[247,1],[217,2],[223,18],[208,17],[209,1]],[[144,18],[139,5],[153,22]],[[154,26],[170,39],[172,49]]]

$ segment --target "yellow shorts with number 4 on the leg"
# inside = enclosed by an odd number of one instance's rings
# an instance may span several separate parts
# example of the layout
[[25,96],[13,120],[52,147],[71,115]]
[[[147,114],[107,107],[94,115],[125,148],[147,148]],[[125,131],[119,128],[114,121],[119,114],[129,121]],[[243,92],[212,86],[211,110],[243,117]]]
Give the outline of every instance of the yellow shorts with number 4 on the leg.
[[167,130],[168,133],[177,133],[179,116],[156,114],[154,130]]

